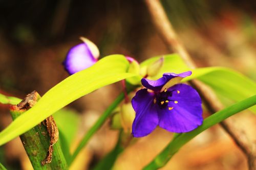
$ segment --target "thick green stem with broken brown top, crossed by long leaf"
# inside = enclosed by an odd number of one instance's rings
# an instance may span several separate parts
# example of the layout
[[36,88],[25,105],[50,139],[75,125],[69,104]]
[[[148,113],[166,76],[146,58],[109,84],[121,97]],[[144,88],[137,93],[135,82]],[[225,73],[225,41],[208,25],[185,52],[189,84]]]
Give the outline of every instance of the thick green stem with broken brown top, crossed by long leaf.
[[[36,91],[33,91],[18,105],[12,105],[10,107],[12,118],[16,119],[23,112],[33,107],[39,99],[39,94]],[[54,152],[51,153],[51,163],[45,165],[41,164],[46,158],[50,145],[50,136],[48,135],[46,126],[42,124],[35,126],[26,133],[20,135],[20,140],[22,140],[23,146],[34,169],[68,169],[68,164],[63,156],[58,141],[53,145]]]

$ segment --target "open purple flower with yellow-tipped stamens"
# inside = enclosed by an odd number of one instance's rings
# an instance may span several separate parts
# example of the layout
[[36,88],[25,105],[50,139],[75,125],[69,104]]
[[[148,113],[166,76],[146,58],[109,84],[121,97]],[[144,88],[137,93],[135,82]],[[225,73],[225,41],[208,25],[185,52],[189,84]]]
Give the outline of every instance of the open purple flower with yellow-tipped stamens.
[[136,92],[132,106],[136,112],[132,134],[142,137],[157,126],[176,133],[189,132],[203,122],[202,101],[198,92],[189,85],[178,84],[190,76],[165,73],[158,80],[141,79],[144,87]]

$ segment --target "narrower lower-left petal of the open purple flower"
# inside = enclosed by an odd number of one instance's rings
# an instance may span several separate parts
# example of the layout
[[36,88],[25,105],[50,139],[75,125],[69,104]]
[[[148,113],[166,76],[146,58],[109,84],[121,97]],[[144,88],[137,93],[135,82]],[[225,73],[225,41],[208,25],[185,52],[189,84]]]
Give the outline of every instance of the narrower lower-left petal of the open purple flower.
[[150,134],[159,122],[154,93],[148,92],[145,88],[137,91],[132,99],[132,105],[136,112],[132,127],[133,136],[142,137]]

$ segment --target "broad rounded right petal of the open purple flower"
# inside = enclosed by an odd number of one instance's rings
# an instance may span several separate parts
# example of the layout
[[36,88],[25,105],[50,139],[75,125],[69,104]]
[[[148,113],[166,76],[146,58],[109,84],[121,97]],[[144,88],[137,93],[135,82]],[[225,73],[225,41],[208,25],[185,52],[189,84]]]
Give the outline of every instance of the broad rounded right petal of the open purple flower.
[[[165,110],[158,110],[159,126],[170,132],[189,132],[202,125],[202,101],[198,92],[186,84],[177,84]],[[174,102],[176,101],[176,102]]]

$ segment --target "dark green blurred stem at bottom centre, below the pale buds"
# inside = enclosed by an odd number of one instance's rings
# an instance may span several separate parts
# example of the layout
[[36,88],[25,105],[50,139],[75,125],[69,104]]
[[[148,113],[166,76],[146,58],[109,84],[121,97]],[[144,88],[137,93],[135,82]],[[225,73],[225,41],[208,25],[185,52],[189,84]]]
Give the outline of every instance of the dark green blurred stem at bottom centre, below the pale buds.
[[122,131],[119,132],[119,137],[118,137],[118,141],[116,143],[115,148],[110,153],[105,155],[104,158],[102,158],[100,162],[93,168],[93,170],[101,170],[101,169],[109,170],[112,168],[118,155],[120,155],[124,151],[124,147],[122,146],[122,143],[121,143],[121,136],[122,136]]

